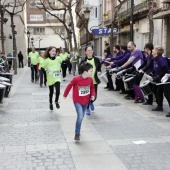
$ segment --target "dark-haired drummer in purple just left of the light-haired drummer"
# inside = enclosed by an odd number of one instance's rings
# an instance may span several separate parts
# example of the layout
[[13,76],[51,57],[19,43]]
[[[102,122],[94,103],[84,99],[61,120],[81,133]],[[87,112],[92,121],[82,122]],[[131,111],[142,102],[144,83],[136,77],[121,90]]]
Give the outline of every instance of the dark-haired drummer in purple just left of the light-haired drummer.
[[[154,47],[152,43],[145,44],[144,51],[145,51],[146,59],[144,63],[138,68],[138,71],[140,72],[139,76],[141,76],[141,78],[143,77],[144,73],[150,75],[154,70],[153,68],[154,57],[152,56],[153,48]],[[155,85],[150,83],[149,87],[152,90],[155,87]],[[152,103],[153,103],[153,94],[151,93],[148,95],[148,99],[143,103],[143,105],[152,105]]]

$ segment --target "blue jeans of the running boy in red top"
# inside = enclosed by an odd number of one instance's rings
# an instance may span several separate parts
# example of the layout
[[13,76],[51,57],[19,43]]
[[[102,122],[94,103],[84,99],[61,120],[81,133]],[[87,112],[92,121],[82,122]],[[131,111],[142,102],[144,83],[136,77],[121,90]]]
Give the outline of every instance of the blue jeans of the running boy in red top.
[[80,103],[74,103],[77,112],[77,120],[76,120],[76,134],[80,134],[81,124],[83,121],[84,114],[87,110],[87,105],[81,105]]

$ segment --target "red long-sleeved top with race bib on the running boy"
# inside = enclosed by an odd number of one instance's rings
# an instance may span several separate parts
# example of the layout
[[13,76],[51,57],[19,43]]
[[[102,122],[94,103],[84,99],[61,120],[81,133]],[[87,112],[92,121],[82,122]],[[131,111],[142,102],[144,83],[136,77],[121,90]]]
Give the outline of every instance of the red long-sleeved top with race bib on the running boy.
[[95,95],[94,84],[91,77],[83,78],[82,76],[76,76],[67,85],[64,91],[64,97],[67,97],[71,88],[73,87],[73,102],[86,105],[90,101],[91,96]]

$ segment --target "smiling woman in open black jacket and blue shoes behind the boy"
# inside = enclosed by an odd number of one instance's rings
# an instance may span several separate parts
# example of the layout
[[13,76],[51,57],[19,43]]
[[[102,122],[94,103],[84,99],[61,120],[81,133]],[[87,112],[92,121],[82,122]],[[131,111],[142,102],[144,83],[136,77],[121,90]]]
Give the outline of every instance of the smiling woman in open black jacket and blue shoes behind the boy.
[[[101,74],[101,64],[100,64],[100,60],[94,56],[94,51],[91,46],[87,46],[85,48],[85,59],[81,61],[80,66],[84,62],[90,63],[93,66],[92,79],[93,79],[93,83],[94,83],[95,94],[97,97],[97,88],[98,88],[98,84],[100,83],[98,75]],[[95,100],[96,100],[96,98],[95,98]],[[90,115],[90,109],[92,111],[94,111],[94,104],[93,104],[94,101],[89,101],[89,105],[88,105],[87,111],[86,111],[87,115]],[[90,109],[89,109],[89,106],[90,106]]]

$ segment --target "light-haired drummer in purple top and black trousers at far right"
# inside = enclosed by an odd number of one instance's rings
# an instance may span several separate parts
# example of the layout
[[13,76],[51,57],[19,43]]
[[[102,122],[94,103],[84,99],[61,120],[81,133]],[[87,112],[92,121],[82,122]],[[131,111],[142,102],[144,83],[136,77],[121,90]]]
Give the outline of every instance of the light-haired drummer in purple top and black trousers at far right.
[[[169,67],[165,57],[162,56],[164,53],[164,49],[159,46],[155,46],[152,50],[152,55],[154,57],[154,72],[153,72],[153,82],[159,83],[161,82],[162,77],[168,73]],[[154,90],[154,94],[156,97],[156,108],[152,109],[152,111],[163,111],[163,91],[164,85],[159,85]]]

